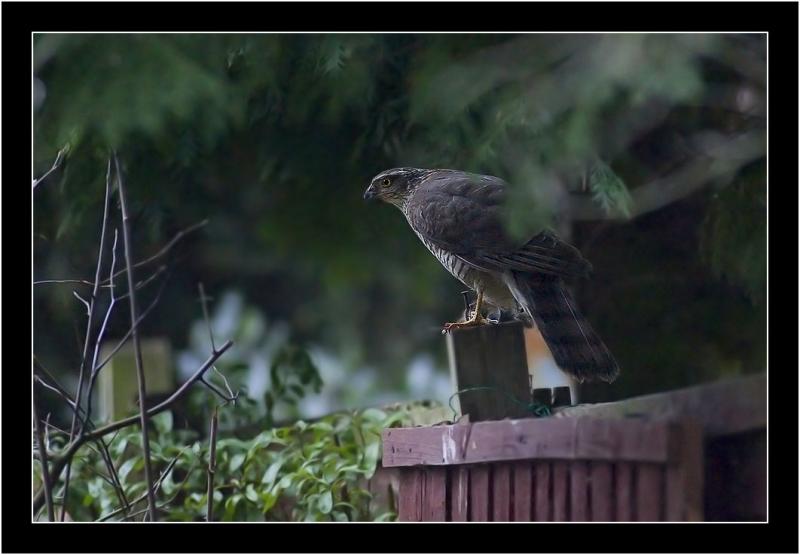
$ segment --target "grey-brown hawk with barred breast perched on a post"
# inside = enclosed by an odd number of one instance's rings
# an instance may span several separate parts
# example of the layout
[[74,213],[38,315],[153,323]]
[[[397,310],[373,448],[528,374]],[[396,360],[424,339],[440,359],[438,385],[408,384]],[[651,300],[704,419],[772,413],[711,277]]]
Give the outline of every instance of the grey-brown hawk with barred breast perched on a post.
[[591,265],[550,230],[510,238],[502,221],[507,194],[497,177],[394,168],[376,175],[364,198],[399,208],[428,250],[477,294],[472,317],[443,331],[483,324],[484,305],[513,311],[535,322],[556,364],[579,382],[613,381],[619,366],[564,282],[587,276]]

